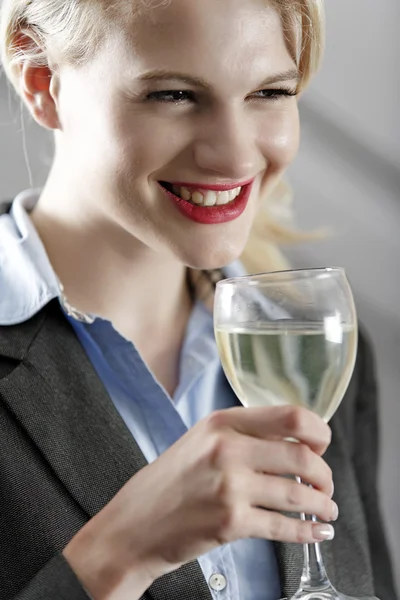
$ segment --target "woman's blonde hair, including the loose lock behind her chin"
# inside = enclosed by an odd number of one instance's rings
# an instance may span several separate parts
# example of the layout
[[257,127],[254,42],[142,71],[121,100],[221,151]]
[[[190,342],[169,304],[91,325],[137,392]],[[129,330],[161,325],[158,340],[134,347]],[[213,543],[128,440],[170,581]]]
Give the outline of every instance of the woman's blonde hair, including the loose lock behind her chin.
[[[157,5],[171,0],[159,0]],[[300,71],[300,91],[319,67],[324,46],[324,0],[266,0],[280,13],[287,46]],[[3,0],[0,11],[0,56],[19,92],[18,71],[27,59],[53,69],[80,64],[96,52],[123,11],[150,8],[153,0]],[[18,40],[29,32],[32,44]],[[291,223],[291,190],[282,181],[262,203],[242,255],[249,272],[288,268],[282,244],[320,237],[296,231]],[[282,219],[282,214],[285,218]],[[289,218],[288,218],[289,217]]]

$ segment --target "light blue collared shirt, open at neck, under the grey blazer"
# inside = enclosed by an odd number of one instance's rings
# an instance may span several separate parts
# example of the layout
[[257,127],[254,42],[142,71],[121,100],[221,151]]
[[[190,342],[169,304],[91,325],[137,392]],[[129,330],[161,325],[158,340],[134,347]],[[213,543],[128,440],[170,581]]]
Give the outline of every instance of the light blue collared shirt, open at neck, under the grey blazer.
[[[27,191],[0,216],[0,326],[24,322],[53,298],[58,279],[28,212],[37,192]],[[227,276],[242,274],[236,263]],[[197,302],[181,352],[173,398],[155,379],[134,345],[109,321],[85,323],[66,314],[111,400],[151,462],[214,410],[238,404],[227,383],[214,340],[212,314]],[[239,540],[199,557],[214,600],[278,600],[277,560],[271,542]],[[215,577],[217,576],[217,577]],[[221,589],[215,589],[215,588]]]

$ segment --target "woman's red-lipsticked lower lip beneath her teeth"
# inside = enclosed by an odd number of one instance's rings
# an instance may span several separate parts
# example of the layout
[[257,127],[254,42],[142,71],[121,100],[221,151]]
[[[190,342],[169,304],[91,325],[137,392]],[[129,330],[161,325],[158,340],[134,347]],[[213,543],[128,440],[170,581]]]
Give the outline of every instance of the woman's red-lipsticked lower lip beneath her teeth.
[[183,198],[175,196],[175,194],[164,188],[161,184],[159,185],[185,217],[203,225],[216,225],[218,223],[228,223],[228,221],[233,221],[240,217],[247,206],[253,182],[244,185],[235,200],[219,206],[198,206],[191,204],[183,200]]

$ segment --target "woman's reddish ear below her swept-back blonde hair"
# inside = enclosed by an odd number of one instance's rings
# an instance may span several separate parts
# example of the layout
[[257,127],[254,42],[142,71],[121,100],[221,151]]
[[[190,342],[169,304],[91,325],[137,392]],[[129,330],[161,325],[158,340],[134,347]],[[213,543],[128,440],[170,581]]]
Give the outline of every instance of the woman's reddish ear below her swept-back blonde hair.
[[[46,129],[60,129],[58,117],[58,76],[49,65],[35,64],[32,49],[39,50],[37,42],[29,33],[20,33],[18,46],[26,58],[19,71],[20,94],[35,121]],[[29,52],[27,49],[29,48]]]

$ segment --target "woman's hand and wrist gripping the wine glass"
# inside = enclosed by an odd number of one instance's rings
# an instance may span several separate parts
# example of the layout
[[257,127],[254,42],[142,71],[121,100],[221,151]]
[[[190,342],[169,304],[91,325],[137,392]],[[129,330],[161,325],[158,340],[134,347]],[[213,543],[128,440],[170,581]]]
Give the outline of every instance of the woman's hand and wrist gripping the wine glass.
[[[96,600],[139,598],[154,579],[239,538],[327,539],[326,525],[278,511],[336,518],[321,458],[330,439],[329,427],[305,409],[215,412],[132,477],[64,555]],[[281,477],[290,474],[314,489]]]

